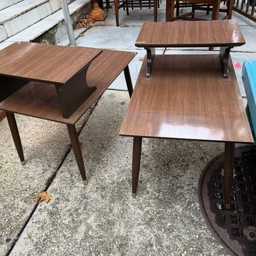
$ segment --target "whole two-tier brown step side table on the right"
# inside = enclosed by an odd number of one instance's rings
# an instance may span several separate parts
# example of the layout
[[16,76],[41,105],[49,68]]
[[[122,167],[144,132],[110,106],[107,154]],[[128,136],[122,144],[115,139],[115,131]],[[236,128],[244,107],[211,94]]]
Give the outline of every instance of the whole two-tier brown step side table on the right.
[[[164,29],[161,30],[162,27]],[[185,33],[187,28],[191,30],[190,38]],[[200,35],[201,39],[198,38]],[[132,195],[137,194],[142,138],[223,142],[223,203],[230,208],[235,143],[253,143],[228,54],[232,46],[244,44],[239,28],[230,20],[191,21],[182,25],[146,23],[136,44],[145,46],[147,54],[150,47],[156,46],[203,44],[209,47],[223,44],[227,55],[224,63],[223,58],[220,61],[216,54],[155,55],[153,68],[153,58],[144,59],[119,132],[120,135],[133,137]],[[229,70],[225,78],[223,65],[224,70]],[[150,77],[145,75],[149,68]]]

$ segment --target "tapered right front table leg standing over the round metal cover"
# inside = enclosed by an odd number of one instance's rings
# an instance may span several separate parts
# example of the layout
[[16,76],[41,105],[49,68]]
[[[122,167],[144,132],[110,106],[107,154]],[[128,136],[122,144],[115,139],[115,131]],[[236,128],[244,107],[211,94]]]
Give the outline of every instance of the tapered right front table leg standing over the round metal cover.
[[224,152],[224,191],[225,208],[230,208],[231,190],[233,186],[233,166],[235,159],[235,143],[226,142]]

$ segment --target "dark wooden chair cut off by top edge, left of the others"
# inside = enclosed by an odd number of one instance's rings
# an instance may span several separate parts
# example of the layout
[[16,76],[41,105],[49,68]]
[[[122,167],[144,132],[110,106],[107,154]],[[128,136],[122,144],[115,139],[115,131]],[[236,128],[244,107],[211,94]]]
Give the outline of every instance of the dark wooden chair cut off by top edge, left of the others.
[[119,26],[119,9],[123,8],[126,10],[126,14],[129,15],[129,8],[154,8],[154,21],[157,21],[157,8],[158,0],[114,0],[115,5],[115,23]]

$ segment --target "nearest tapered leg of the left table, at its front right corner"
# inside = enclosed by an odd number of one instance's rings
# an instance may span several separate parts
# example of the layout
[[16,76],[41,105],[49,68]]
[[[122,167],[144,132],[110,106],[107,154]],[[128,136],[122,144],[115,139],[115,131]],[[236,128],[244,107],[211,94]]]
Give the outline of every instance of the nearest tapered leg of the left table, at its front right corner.
[[76,126],[74,126],[73,124],[67,124],[67,126],[68,126],[68,133],[70,134],[72,149],[74,151],[74,156],[76,158],[76,162],[83,179],[83,184],[87,185],[88,182],[85,174],[85,165],[83,163],[83,155],[82,155],[81,147],[79,144],[79,137],[77,136],[77,133],[76,133]]

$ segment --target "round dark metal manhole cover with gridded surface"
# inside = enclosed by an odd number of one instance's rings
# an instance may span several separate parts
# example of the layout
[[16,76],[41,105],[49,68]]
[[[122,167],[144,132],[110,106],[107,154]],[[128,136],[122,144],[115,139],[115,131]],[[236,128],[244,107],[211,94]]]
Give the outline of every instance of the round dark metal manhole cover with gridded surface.
[[256,147],[236,149],[231,208],[224,208],[223,154],[205,167],[199,203],[205,221],[235,255],[256,255]]

